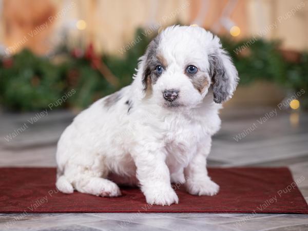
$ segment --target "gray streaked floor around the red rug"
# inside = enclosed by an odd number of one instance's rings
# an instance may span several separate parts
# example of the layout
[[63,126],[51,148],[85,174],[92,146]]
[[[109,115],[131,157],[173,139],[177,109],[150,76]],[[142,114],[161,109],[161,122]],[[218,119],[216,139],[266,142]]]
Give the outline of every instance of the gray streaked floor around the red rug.
[[[288,166],[294,179],[308,179],[308,113],[280,112],[259,123],[268,111],[271,108],[224,109],[208,165]],[[36,123],[27,122],[34,116],[0,114],[0,167],[55,166],[56,141],[74,115],[56,111]],[[27,129],[13,139],[7,137],[24,123]],[[247,132],[254,123],[256,128]],[[245,136],[237,139],[241,132]],[[298,187],[308,201],[308,180]],[[308,215],[0,214],[0,230],[308,230]]]

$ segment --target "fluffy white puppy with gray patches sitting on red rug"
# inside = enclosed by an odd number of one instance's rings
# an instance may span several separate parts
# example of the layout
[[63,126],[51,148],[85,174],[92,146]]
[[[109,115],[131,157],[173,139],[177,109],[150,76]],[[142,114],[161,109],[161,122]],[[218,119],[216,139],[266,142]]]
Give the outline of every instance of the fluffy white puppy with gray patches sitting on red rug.
[[133,79],[65,129],[56,187],[115,197],[117,184],[139,185],[157,205],[178,203],[172,182],[193,195],[217,194],[206,157],[221,103],[238,81],[219,38],[201,27],[168,27],[149,44]]

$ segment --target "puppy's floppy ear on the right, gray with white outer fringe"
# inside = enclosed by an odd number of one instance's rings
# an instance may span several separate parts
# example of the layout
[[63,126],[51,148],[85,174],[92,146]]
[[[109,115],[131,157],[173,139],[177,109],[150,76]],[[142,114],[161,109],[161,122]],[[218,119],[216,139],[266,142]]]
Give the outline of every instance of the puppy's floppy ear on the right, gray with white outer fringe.
[[221,45],[214,53],[208,55],[208,61],[214,102],[221,104],[232,98],[238,84],[238,72]]

